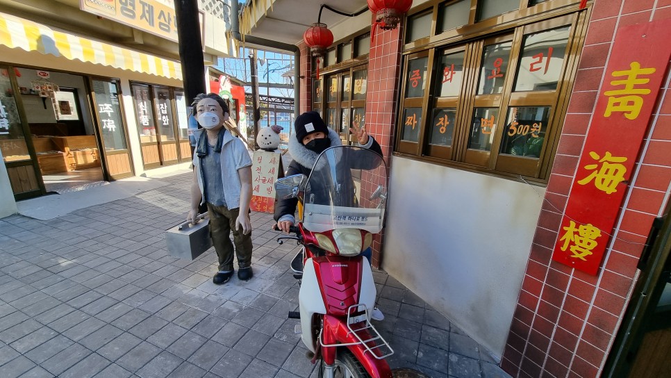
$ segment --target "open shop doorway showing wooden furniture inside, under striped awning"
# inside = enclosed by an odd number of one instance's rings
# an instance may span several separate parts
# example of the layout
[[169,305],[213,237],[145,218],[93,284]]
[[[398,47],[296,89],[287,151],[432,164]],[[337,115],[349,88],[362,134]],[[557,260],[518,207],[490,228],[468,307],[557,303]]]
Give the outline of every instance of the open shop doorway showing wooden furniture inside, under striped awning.
[[45,192],[106,183],[90,106],[82,101],[88,92],[85,77],[27,68],[15,72]]

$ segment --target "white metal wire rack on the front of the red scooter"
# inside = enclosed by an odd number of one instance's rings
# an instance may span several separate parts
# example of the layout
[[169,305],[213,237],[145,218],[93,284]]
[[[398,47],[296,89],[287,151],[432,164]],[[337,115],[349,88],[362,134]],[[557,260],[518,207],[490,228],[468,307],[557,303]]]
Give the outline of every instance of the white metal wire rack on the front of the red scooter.
[[[356,315],[354,317],[351,316],[353,312],[360,313],[361,311],[363,311],[363,314]],[[360,325],[360,324],[361,327],[357,327],[356,329],[352,328],[353,325]],[[330,345],[324,344],[324,340],[322,340],[322,331],[324,331],[324,328],[322,327],[322,329],[320,329],[320,336],[319,336],[320,345],[322,345],[322,347],[345,347],[347,345],[361,344],[363,345],[363,347],[365,347],[366,349],[365,352],[370,352],[372,356],[374,356],[376,359],[379,360],[394,354],[394,350],[392,350],[389,343],[387,343],[387,340],[385,340],[381,336],[381,334],[377,331],[377,329],[375,329],[373,324],[371,324],[368,316],[368,308],[365,304],[353,304],[349,306],[349,309],[347,309],[347,329],[349,329],[349,333],[353,334],[354,337],[358,340],[358,342],[330,344]],[[361,336],[359,335],[359,332],[361,331],[368,331],[368,334],[370,334],[371,338],[363,340],[363,338],[361,338]],[[375,346],[371,347],[370,345],[368,345],[369,343],[374,342],[376,340],[379,340],[379,342],[375,343],[376,344]]]

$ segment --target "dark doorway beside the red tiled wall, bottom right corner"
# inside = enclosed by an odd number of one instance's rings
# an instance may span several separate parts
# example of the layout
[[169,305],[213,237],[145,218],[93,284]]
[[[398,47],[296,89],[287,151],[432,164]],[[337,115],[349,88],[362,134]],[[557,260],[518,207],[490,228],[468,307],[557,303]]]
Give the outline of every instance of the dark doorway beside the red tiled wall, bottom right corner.
[[654,221],[638,268],[604,377],[671,377],[671,202]]

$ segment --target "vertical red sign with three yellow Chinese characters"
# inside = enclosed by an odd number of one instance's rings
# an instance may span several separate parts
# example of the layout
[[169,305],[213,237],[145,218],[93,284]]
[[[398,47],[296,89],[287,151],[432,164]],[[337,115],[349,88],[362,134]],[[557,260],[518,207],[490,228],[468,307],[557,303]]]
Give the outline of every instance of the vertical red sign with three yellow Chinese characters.
[[597,274],[671,56],[671,24],[618,30],[552,259]]

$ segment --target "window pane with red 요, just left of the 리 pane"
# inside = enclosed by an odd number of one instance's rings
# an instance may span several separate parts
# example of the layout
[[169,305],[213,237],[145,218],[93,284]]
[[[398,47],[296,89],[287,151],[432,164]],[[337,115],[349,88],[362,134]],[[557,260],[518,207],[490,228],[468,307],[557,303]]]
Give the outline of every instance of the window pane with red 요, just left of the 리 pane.
[[513,42],[485,46],[480,67],[478,94],[499,94],[503,90]]

